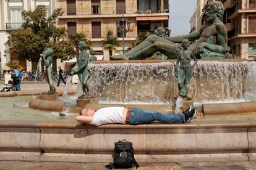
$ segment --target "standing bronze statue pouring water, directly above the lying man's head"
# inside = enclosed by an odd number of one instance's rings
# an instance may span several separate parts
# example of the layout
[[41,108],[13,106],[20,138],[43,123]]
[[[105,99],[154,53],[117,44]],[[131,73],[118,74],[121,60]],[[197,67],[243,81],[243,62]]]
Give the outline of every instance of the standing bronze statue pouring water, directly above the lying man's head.
[[89,54],[85,50],[86,49],[86,43],[84,41],[79,42],[79,59],[77,59],[77,63],[75,64],[75,67],[71,69],[70,75],[78,75],[80,83],[82,84],[83,89],[83,95],[89,94],[89,88],[88,88],[88,78],[89,78],[89,68],[88,68],[88,62],[89,62]]

